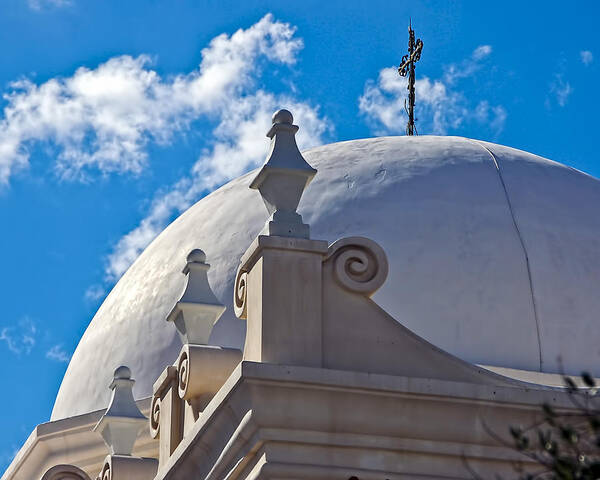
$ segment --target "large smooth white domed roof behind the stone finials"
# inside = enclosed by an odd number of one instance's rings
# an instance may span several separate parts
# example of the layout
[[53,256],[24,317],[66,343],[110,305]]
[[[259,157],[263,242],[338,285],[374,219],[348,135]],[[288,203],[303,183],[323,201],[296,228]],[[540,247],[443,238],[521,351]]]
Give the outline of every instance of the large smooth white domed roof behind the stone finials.
[[[304,153],[318,174],[299,211],[311,237],[377,241],[390,264],[374,300],[473,363],[556,372],[597,367],[600,181],[512,148],[457,137],[386,137]],[[104,408],[122,364],[136,398],[175,361],[165,318],[194,248],[227,311],[211,343],[243,347],[236,267],[267,217],[256,172],[200,200],[142,253],[99,308],[61,385],[53,419]]]

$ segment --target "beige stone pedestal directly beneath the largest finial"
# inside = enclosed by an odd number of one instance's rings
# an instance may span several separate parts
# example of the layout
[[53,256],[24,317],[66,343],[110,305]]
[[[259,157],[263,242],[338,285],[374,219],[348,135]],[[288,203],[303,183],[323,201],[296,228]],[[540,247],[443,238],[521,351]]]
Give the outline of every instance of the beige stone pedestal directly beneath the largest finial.
[[320,240],[264,235],[250,245],[235,286],[236,312],[248,323],[244,360],[321,366],[327,247]]

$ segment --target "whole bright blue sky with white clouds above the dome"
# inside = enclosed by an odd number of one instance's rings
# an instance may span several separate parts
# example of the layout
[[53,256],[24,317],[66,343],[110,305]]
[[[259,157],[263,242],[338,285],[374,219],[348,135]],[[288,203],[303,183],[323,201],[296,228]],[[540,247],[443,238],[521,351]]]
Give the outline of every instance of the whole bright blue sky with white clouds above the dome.
[[164,226],[264,158],[417,128],[600,176],[597,2],[0,1],[0,471],[47,421],[107,292]]

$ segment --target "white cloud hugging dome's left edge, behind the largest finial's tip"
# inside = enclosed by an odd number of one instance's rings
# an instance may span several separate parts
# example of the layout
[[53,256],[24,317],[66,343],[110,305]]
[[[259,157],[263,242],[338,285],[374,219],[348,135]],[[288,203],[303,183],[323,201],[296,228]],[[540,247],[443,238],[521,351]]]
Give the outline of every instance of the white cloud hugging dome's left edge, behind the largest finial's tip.
[[301,126],[298,133],[300,148],[322,143],[328,127],[316,108],[263,91],[232,98],[214,130],[216,142],[213,147],[200,156],[188,176],[168,191],[157,194],[146,217],[116,244],[107,258],[108,281],[117,280],[175,215],[204,193],[264,161],[268,148],[265,133],[271,124],[272,113],[281,106],[289,108],[294,113],[294,121]]

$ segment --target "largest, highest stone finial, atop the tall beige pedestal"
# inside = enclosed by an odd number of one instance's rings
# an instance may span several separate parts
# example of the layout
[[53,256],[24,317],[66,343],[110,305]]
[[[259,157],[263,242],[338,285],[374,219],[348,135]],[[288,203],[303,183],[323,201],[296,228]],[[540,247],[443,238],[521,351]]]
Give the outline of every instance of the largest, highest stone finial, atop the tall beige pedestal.
[[279,110],[273,115],[273,126],[267,133],[271,139],[267,161],[252,180],[250,188],[260,192],[271,215],[263,234],[309,238],[309,226],[302,223],[296,209],[317,171],[298,150],[298,126],[293,125],[293,121],[288,110]]

